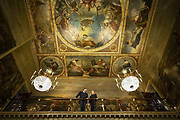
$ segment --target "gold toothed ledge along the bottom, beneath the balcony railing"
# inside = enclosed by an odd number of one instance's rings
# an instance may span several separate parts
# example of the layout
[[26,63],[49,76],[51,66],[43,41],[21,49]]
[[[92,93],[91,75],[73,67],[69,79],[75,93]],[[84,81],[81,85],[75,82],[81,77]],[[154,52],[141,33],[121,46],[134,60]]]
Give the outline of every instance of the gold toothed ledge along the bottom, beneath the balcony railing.
[[0,112],[0,120],[61,120],[61,119],[122,119],[122,120],[179,120],[178,112]]

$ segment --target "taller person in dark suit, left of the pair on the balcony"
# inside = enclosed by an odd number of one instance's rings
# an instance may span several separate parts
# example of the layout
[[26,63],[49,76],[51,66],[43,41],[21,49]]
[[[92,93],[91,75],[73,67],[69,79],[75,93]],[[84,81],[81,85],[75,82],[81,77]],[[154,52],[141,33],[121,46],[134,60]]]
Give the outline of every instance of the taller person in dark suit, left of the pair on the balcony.
[[80,111],[85,111],[85,106],[87,103],[87,98],[88,94],[86,93],[87,89],[84,88],[83,91],[80,91],[77,95],[76,98],[80,98],[79,104],[80,104]]

